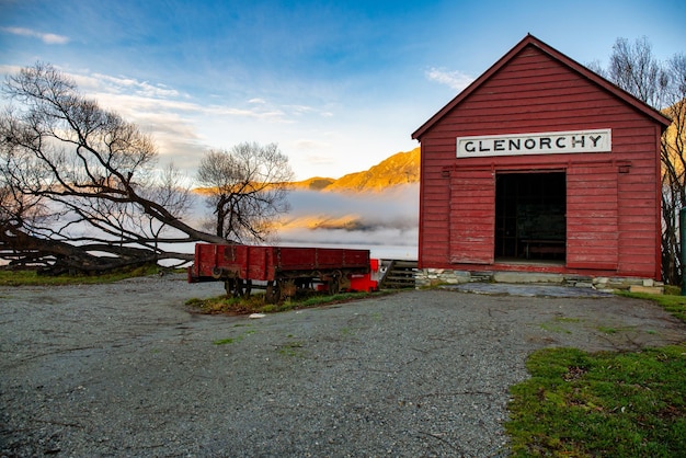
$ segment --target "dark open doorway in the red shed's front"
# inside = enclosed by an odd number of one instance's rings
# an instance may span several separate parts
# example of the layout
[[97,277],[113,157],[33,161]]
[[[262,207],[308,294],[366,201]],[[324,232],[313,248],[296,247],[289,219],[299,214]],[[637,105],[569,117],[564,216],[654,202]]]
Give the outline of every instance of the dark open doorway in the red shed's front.
[[495,257],[563,262],[564,172],[500,173],[495,180]]

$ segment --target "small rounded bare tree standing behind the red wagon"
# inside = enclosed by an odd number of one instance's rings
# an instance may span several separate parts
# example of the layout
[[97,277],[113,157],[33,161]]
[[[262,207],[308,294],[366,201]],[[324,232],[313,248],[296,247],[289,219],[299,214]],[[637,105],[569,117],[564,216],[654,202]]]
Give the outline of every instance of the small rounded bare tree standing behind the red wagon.
[[275,144],[243,142],[229,151],[208,151],[197,180],[207,187],[215,233],[238,242],[264,241],[274,221],[289,210],[293,171]]

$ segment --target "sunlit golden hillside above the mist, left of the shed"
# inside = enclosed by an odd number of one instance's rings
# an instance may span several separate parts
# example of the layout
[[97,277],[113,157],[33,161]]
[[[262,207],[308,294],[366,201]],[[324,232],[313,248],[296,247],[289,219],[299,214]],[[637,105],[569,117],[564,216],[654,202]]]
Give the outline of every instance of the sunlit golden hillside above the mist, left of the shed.
[[399,184],[420,181],[420,148],[398,152],[364,172],[350,173],[339,180],[315,178],[294,183],[298,188],[332,192],[382,191]]

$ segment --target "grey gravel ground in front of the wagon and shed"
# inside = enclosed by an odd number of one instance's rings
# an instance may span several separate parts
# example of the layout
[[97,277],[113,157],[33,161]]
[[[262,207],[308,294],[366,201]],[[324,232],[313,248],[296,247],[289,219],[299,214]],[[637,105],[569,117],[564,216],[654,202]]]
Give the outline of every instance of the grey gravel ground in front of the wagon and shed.
[[184,306],[221,293],[179,275],[0,288],[0,455],[507,456],[507,390],[533,351],[686,335],[618,297],[418,290],[262,319]]

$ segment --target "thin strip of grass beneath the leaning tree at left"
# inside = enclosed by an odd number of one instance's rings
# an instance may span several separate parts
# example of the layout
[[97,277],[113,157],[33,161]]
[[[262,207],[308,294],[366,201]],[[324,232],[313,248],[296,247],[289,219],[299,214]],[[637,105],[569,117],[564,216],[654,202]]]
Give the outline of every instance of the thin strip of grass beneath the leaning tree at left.
[[61,286],[114,283],[126,278],[158,275],[157,266],[138,267],[103,275],[38,275],[36,271],[0,270],[0,286]]

